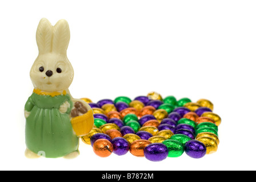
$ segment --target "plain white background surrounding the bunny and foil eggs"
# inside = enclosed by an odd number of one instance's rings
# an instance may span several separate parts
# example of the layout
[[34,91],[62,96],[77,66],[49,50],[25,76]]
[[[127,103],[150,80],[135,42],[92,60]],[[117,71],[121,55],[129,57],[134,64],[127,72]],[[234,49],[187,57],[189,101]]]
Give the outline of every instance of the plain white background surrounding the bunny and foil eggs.
[[[1,1],[2,170],[255,170],[255,1]],[[206,98],[222,117],[218,151],[150,162],[130,153],[99,158],[80,143],[74,160],[26,159],[23,108],[33,85],[41,18],[69,22],[70,92]]]

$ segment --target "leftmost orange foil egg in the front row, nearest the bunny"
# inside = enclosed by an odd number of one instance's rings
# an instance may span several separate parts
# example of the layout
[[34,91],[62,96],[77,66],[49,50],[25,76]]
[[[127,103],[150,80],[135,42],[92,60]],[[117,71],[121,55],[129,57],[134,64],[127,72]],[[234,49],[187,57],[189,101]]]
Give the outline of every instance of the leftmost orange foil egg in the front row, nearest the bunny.
[[113,150],[113,145],[111,144],[111,142],[109,142],[109,140],[106,139],[98,139],[93,144],[94,153],[102,158],[110,156]]

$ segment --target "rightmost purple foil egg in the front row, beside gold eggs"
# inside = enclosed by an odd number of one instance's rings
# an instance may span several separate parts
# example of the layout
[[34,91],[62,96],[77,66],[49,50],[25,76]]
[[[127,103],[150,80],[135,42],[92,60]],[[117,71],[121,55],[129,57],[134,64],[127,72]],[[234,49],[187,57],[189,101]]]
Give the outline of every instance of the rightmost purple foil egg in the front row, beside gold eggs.
[[189,140],[185,144],[185,152],[191,158],[199,159],[205,156],[206,147],[205,144],[198,140]]

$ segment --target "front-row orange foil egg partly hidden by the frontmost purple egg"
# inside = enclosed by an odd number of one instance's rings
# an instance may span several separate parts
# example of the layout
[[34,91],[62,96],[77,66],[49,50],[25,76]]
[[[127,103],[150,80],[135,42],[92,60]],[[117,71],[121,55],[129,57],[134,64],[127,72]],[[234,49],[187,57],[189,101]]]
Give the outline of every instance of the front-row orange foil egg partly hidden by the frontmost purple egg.
[[151,144],[149,140],[136,140],[130,144],[130,152],[134,156],[143,157],[144,156],[144,148]]

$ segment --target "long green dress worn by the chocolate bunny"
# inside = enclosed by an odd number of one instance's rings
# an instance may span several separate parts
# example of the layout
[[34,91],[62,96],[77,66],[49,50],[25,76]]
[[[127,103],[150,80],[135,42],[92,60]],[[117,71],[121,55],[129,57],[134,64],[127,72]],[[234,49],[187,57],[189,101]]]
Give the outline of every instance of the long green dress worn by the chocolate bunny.
[[[68,101],[70,108],[61,113],[59,107]],[[79,138],[70,122],[73,102],[69,94],[49,96],[33,93],[26,102],[26,146],[35,154],[58,158],[78,151]]]

